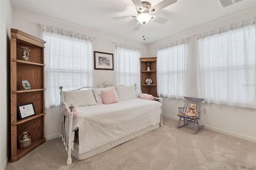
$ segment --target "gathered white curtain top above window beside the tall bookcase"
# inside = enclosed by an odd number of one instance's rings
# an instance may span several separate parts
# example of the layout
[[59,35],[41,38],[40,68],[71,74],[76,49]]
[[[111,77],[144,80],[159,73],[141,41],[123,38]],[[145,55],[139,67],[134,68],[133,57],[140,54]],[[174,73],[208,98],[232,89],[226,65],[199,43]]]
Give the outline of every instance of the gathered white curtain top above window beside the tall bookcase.
[[[35,24],[38,24],[38,23],[35,22]],[[45,31],[45,32],[52,32],[52,33],[55,33],[55,34],[60,34],[60,35],[64,35],[64,36],[78,38],[78,39],[81,39],[81,40],[94,40],[96,38],[96,37],[92,37],[92,36],[82,35],[78,32],[64,30],[62,28],[56,28],[56,27],[53,27],[53,26],[46,26],[45,24],[39,24],[39,26],[42,27],[42,30]]]

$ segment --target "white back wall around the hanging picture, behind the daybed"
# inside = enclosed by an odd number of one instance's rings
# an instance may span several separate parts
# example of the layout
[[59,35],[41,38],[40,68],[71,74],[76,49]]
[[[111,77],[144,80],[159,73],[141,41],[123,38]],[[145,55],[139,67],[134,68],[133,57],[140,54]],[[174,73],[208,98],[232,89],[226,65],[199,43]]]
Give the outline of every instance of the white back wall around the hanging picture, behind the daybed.
[[[96,39],[92,41],[93,51],[113,53],[115,57],[115,44],[113,42],[116,42],[132,45],[135,47],[141,47],[143,48],[142,57],[147,57],[148,55],[147,45],[143,45],[138,42],[125,40],[116,36],[102,34],[88,28],[82,28],[80,26],[76,26],[70,23],[61,22],[52,18],[38,16],[20,10],[12,11],[12,28],[18,29],[32,36],[42,39],[42,28],[40,28],[38,24],[34,24],[34,22],[45,24],[46,26],[54,26],[56,28],[63,28],[64,30],[79,32],[80,34],[86,34],[88,36],[96,37]],[[100,81],[105,80],[115,82],[114,71],[112,70],[94,70],[93,77],[94,85],[96,85]],[[46,139],[55,138],[56,136],[58,136],[59,132],[59,107],[51,107],[50,109],[46,109],[45,112],[45,137]]]

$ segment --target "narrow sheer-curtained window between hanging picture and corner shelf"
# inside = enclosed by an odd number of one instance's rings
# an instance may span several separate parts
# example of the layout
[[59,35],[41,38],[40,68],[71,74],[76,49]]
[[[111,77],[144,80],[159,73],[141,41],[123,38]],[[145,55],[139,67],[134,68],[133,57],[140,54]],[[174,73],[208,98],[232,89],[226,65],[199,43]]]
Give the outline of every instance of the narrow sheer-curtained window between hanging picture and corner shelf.
[[140,49],[116,47],[116,84],[140,87]]

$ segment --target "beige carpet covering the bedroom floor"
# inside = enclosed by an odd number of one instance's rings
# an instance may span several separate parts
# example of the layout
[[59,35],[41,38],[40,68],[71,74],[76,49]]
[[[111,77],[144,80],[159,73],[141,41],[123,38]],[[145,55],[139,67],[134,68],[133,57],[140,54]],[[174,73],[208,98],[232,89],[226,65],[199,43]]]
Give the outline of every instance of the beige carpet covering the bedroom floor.
[[193,125],[176,128],[164,117],[164,126],[106,152],[66,165],[60,138],[47,140],[6,170],[256,170],[256,142]]

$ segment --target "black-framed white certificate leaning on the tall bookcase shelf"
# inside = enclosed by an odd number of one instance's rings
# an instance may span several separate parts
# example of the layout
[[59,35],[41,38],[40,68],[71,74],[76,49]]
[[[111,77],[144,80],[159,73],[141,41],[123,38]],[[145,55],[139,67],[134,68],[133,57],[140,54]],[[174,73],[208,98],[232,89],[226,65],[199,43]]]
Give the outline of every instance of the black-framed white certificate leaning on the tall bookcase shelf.
[[36,115],[33,103],[17,106],[20,120]]

